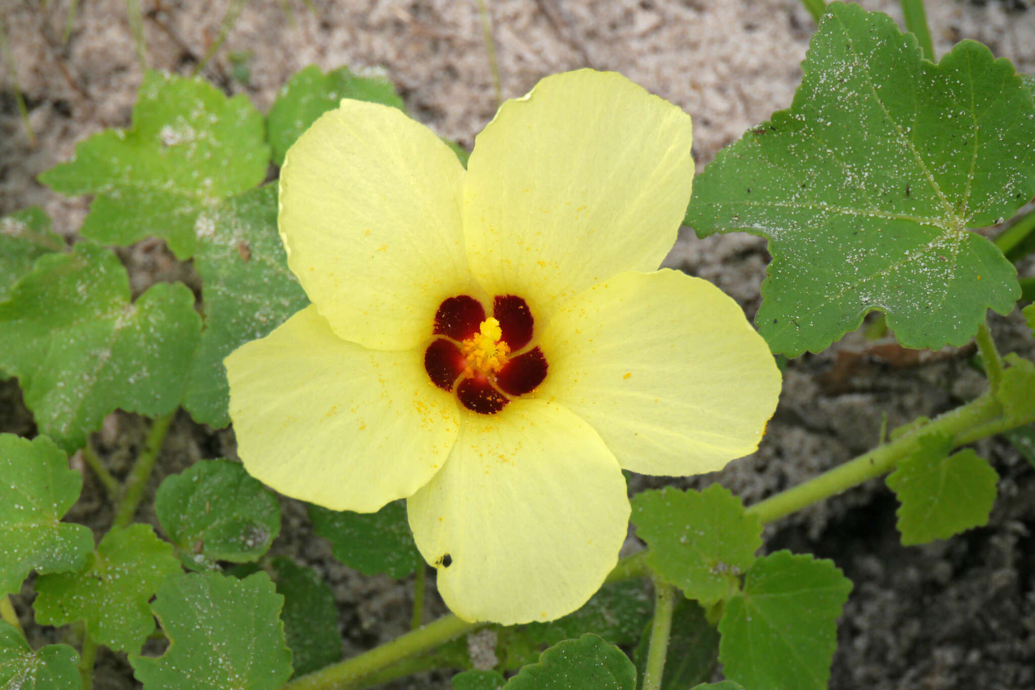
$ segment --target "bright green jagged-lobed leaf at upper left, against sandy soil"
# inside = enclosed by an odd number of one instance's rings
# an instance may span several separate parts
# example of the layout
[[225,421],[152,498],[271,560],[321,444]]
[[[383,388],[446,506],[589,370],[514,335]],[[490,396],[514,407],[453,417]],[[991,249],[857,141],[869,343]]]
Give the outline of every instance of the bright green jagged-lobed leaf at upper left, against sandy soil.
[[80,231],[103,244],[166,240],[177,259],[195,250],[198,213],[266,177],[262,115],[202,79],[148,71],[129,129],[76,146],[39,181],[67,196],[96,194]]

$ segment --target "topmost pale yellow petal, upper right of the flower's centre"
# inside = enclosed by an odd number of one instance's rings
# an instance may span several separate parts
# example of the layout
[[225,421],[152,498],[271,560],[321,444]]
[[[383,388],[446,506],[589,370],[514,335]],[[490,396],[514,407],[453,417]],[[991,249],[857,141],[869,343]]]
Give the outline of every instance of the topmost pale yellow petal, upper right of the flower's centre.
[[690,117],[616,72],[548,77],[475,140],[464,183],[472,271],[491,295],[553,304],[656,269],[690,200]]

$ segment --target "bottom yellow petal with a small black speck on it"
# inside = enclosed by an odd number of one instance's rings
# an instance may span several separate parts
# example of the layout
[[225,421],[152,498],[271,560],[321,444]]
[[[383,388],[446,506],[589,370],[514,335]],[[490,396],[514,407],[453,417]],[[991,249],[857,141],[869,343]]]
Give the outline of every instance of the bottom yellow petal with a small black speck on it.
[[442,471],[407,502],[439,593],[466,621],[550,621],[618,562],[629,502],[600,437],[560,406],[470,414]]

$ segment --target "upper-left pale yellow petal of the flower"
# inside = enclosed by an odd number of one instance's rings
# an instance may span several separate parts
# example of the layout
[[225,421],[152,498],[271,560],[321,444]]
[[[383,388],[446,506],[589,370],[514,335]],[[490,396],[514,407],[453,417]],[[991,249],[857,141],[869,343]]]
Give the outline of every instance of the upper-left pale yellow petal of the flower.
[[288,151],[280,237],[288,265],[341,337],[379,350],[426,338],[465,292],[464,168],[394,108],[345,99]]

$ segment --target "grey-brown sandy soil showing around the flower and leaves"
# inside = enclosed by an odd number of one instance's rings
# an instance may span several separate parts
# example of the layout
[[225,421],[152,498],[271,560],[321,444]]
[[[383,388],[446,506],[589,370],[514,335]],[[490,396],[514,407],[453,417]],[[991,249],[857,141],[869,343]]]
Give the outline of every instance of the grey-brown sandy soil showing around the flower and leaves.
[[[231,0],[140,0],[147,64],[188,73],[219,32]],[[438,133],[470,148],[492,118],[496,99],[475,0],[252,0],[203,74],[229,93],[246,93],[262,111],[301,67],[347,65],[391,79],[411,113]],[[694,122],[702,170],[742,131],[791,103],[815,26],[798,0],[486,0],[504,97],[526,93],[541,77],[583,66],[615,69],[679,104]],[[893,0],[861,2],[900,20]],[[928,0],[939,55],[963,38],[987,44],[1019,71],[1035,72],[1035,8],[1027,0]],[[68,0],[3,0],[0,19],[13,65],[0,74],[0,214],[38,204],[55,231],[71,237],[88,199],[65,200],[35,181],[68,158],[75,144],[106,127],[129,124],[142,69],[122,0],[81,0],[67,41]],[[36,134],[30,145],[19,118],[10,68],[17,72]],[[120,252],[137,293],[156,280],[194,280],[164,244],[141,242]],[[667,265],[711,280],[749,317],[769,260],[765,242],[746,235],[698,240],[684,229]],[[1035,263],[1021,267],[1035,274]],[[1015,311],[993,316],[1001,349],[1035,356]],[[975,397],[982,378],[972,349],[916,353],[892,340],[846,336],[821,355],[789,363],[776,416],[762,447],[721,473],[719,481],[753,503],[871,448],[887,415],[894,427]],[[13,382],[0,384],[0,431],[34,433]],[[146,422],[116,413],[96,438],[121,476],[143,443]],[[874,481],[770,527],[765,548],[831,558],[855,582],[838,628],[830,687],[835,690],[1021,690],[1035,688],[1035,472],[1008,443],[978,444],[1002,477],[986,528],[948,542],[899,545],[894,497]],[[234,456],[233,433],[200,426],[180,413],[151,490],[161,478],[200,458]],[[634,478],[633,488],[671,480]],[[87,473],[69,519],[108,528],[111,507]],[[145,503],[147,505],[147,503]],[[347,656],[408,628],[410,586],[364,577],[334,562],[312,535],[304,509],[284,501],[274,551],[317,568],[339,605]],[[154,521],[149,507],[141,519]],[[630,540],[632,541],[632,540]],[[633,546],[630,544],[630,547]],[[26,587],[19,604],[25,616]],[[431,597],[428,617],[445,612]],[[30,626],[40,641],[48,634]],[[425,674],[396,688],[448,687]],[[96,687],[139,687],[124,656],[102,652]]]

